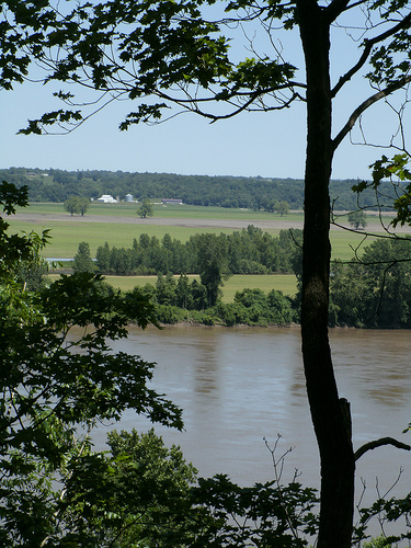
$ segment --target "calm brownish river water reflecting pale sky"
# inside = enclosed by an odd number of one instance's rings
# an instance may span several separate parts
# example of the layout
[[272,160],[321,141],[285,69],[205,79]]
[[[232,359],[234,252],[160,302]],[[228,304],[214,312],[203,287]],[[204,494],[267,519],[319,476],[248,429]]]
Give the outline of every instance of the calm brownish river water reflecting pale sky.
[[[411,444],[411,332],[330,330],[340,396],[351,402],[354,446],[384,436]],[[152,386],[184,410],[185,431],[157,427],[203,477],[228,473],[241,484],[273,479],[272,456],[286,455],[283,480],[319,487],[319,456],[307,403],[298,328],[130,329],[113,349],[156,362]],[[110,427],[147,431],[134,413]],[[104,443],[101,429],[95,438]],[[357,464],[357,492],[384,494],[403,469],[396,494],[411,491],[411,452],[381,447]]]

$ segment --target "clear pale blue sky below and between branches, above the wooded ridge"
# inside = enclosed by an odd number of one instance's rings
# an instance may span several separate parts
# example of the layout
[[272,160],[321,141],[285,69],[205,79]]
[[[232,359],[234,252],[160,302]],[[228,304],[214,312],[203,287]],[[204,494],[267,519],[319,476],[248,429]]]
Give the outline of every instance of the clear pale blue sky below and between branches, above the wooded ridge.
[[[335,78],[346,70],[352,59],[357,58],[355,45],[349,53],[340,38],[333,38],[332,73]],[[295,59],[299,59],[300,46],[295,35],[287,47]],[[361,82],[350,85],[334,106],[335,130],[369,94],[368,88]],[[159,126],[138,125],[121,133],[118,124],[135,105],[132,102],[117,102],[70,135],[16,135],[28,118],[61,107],[52,96],[53,91],[48,84],[31,83],[16,84],[14,91],[1,91],[0,168],[304,176],[304,104],[282,112],[246,113],[212,125],[204,118],[186,113]],[[388,141],[389,127],[393,122],[392,111],[381,104],[368,112],[364,124],[367,135],[373,135],[380,144]],[[378,137],[379,134],[384,137]],[[354,133],[354,139],[359,139],[358,132]],[[369,178],[369,163],[383,152],[375,148],[353,146],[346,139],[336,152],[333,179]]]

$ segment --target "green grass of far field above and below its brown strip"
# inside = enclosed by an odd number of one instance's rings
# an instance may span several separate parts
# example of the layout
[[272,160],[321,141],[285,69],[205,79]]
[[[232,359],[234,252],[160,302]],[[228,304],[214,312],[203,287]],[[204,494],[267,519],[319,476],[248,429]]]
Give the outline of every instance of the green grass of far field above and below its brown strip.
[[[242,220],[242,221],[253,221],[258,220],[276,220],[277,226],[281,227],[281,222],[301,222],[302,214],[290,214],[283,218],[277,215],[267,214],[265,212],[252,212],[243,209],[228,209],[222,207],[198,207],[198,206],[187,206],[187,205],[173,205],[173,206],[156,206],[155,207],[155,219],[159,218],[158,225],[125,225],[116,222],[116,217],[136,217],[136,204],[92,204],[90,210],[85,217],[92,217],[95,215],[103,215],[106,217],[106,221],[87,222],[87,219],[82,219],[80,222],[72,221],[70,216],[66,214],[67,220],[53,220],[47,218],[47,216],[64,214],[62,204],[33,204],[28,208],[25,208],[24,213],[30,213],[31,215],[44,215],[44,218],[34,218],[33,221],[27,222],[23,220],[15,220],[13,218],[8,219],[10,222],[10,231],[26,231],[35,230],[37,232],[49,228],[52,230],[52,241],[45,250],[45,255],[49,258],[61,258],[70,259],[77,253],[78,246],[81,241],[87,241],[90,244],[91,254],[94,256],[99,246],[103,246],[107,242],[110,247],[117,248],[129,248],[133,244],[134,238],[139,238],[141,233],[148,233],[150,237],[156,236],[161,239],[164,233],[169,233],[172,238],[185,242],[191,236],[198,232],[214,232],[230,233],[233,229],[221,228],[221,227],[190,227],[190,226],[172,226],[167,224],[167,218],[186,218],[186,219],[214,219],[218,220],[231,219],[231,220]],[[370,230],[376,231],[379,228],[377,218],[368,218],[368,227]],[[270,228],[266,231],[272,235],[277,235],[281,228]],[[353,256],[352,248],[358,246],[363,237],[361,235],[355,235],[345,231],[331,231],[331,244],[332,244],[332,256],[333,259],[349,260]],[[372,239],[367,240],[369,243]]]

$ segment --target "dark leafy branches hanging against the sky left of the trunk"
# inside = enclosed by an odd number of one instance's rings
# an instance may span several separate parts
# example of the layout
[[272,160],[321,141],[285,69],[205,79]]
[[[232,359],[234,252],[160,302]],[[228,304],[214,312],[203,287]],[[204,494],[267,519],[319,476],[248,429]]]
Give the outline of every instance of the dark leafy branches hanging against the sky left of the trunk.
[[[221,27],[258,16],[262,20],[285,16],[285,26],[292,27],[294,4],[287,8],[281,2],[269,2],[256,8],[251,2],[231,2],[227,4],[227,18],[212,21],[204,12],[215,3],[215,0],[133,3],[111,0],[101,4],[85,2],[71,12],[60,13],[48,2],[23,8],[5,2],[3,27],[8,44],[14,48],[4,45],[2,83],[11,89],[13,81],[23,81],[35,61],[46,68],[45,81],[92,88],[101,93],[102,105],[116,99],[137,100],[137,109],[121,123],[121,129],[140,121],[159,121],[172,103],[182,111],[194,110],[212,119],[219,117],[207,112],[206,105],[214,101],[228,101],[233,113],[261,109],[259,103],[269,94],[279,105],[269,109],[289,105],[297,99],[288,90],[296,85],[289,83],[295,67],[281,56],[274,60],[255,56],[231,61],[230,38]],[[242,8],[246,15],[240,14]],[[19,50],[24,52],[21,58]],[[284,99],[287,94],[289,98]],[[82,112],[87,105],[76,105],[71,92],[60,90],[56,95],[69,109],[30,121],[21,133],[47,133],[54,124],[70,130],[88,117]]]

